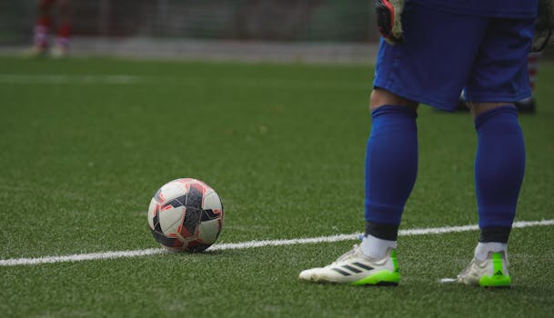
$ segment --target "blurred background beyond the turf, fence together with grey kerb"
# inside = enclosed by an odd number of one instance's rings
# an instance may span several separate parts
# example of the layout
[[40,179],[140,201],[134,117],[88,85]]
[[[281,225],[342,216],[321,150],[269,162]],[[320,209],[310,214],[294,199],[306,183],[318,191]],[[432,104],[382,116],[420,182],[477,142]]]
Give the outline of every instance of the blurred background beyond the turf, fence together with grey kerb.
[[[76,54],[220,59],[264,55],[268,59],[369,63],[378,42],[372,0],[70,3],[71,50]],[[9,52],[32,45],[37,4],[37,0],[0,1],[0,49]],[[55,21],[59,10],[54,7],[51,12]],[[213,45],[219,53],[213,52]]]

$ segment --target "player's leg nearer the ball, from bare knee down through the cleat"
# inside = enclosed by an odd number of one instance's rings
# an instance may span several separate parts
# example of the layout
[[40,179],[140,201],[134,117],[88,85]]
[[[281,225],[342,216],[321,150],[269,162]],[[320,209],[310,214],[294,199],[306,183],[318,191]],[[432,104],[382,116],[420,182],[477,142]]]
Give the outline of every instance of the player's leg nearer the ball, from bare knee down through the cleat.
[[371,94],[371,133],[366,156],[366,210],[371,210],[361,245],[325,267],[299,274],[306,281],[397,285],[398,225],[416,181],[417,102],[382,89]]

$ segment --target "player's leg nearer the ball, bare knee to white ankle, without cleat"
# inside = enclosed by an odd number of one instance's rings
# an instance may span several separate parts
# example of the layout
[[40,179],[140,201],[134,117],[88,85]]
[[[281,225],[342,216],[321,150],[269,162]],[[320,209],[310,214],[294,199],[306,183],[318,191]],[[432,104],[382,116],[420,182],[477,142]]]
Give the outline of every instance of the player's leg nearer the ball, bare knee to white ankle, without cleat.
[[379,259],[396,249],[398,226],[418,175],[418,102],[376,87],[370,109],[361,248]]

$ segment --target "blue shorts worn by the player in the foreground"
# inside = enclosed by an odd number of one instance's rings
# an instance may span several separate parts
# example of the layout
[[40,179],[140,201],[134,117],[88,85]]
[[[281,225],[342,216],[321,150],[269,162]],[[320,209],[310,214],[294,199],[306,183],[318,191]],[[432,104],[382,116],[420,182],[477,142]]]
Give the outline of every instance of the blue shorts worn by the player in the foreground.
[[531,94],[527,55],[534,19],[456,15],[407,3],[404,43],[381,39],[373,85],[453,111],[468,102],[516,102]]

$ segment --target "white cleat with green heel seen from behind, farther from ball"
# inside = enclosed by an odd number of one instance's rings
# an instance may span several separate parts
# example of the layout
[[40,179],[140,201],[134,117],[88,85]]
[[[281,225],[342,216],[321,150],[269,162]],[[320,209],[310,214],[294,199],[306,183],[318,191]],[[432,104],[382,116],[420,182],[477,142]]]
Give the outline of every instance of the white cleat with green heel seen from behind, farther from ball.
[[511,278],[508,273],[508,265],[508,257],[505,252],[489,252],[487,258],[482,262],[474,257],[468,267],[458,274],[458,283],[509,288]]

